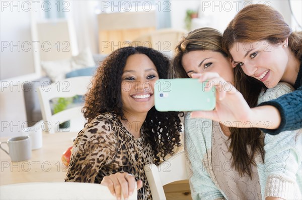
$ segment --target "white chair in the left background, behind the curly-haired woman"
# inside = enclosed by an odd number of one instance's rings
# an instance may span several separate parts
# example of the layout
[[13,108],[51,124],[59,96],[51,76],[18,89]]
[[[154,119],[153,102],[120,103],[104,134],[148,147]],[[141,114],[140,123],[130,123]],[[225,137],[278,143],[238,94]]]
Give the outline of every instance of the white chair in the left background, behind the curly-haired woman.
[[42,84],[42,86],[39,87],[38,94],[44,121],[43,129],[45,132],[58,132],[59,124],[68,120],[74,120],[70,122],[70,126],[75,124],[78,129],[77,131],[84,128],[86,120],[81,112],[82,106],[69,108],[52,115],[49,100],[58,97],[73,97],[75,95],[86,94],[91,83],[91,78],[91,76],[72,77],[50,85]]

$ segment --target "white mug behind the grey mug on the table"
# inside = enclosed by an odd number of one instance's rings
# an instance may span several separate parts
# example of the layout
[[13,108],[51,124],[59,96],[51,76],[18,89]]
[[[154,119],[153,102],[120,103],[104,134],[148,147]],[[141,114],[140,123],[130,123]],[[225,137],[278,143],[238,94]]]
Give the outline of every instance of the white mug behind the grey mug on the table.
[[42,148],[42,129],[40,126],[24,128],[22,135],[28,135],[30,137],[32,150]]

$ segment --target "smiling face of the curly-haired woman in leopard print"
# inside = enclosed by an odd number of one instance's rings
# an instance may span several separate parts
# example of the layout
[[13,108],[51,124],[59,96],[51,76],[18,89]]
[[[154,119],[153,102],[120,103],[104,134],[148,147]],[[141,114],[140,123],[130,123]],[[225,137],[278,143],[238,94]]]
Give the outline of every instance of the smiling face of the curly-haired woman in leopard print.
[[154,84],[158,79],[158,71],[146,55],[129,56],[121,79],[123,112],[147,113],[154,106]]

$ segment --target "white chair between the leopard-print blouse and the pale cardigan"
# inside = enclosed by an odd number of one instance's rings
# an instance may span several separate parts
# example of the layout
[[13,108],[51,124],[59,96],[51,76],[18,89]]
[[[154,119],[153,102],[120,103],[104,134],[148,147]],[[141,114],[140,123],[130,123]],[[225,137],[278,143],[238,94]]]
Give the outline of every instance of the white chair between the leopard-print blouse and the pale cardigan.
[[188,179],[186,171],[185,152],[179,152],[159,166],[147,164],[144,171],[154,199],[166,199],[163,185],[168,183]]

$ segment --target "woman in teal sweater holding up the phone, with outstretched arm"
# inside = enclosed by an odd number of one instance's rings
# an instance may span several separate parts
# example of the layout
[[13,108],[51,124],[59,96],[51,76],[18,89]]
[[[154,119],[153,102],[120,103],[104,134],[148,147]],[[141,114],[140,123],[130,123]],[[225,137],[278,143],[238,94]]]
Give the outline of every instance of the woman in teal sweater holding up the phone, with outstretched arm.
[[[249,122],[269,134],[301,128],[302,32],[293,32],[271,7],[255,4],[242,9],[230,22],[223,33],[222,47],[239,71],[263,87],[286,82],[295,91],[250,108],[240,93],[221,90],[216,101],[219,110],[198,111],[192,116],[228,122],[225,124],[232,127],[244,127]],[[200,81],[218,77],[205,73]]]

